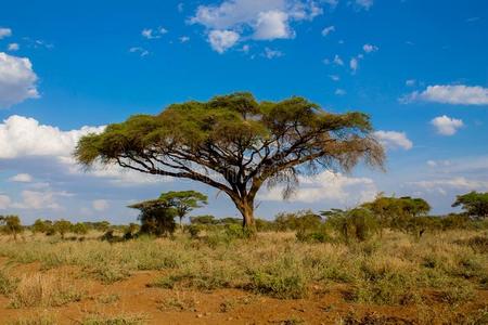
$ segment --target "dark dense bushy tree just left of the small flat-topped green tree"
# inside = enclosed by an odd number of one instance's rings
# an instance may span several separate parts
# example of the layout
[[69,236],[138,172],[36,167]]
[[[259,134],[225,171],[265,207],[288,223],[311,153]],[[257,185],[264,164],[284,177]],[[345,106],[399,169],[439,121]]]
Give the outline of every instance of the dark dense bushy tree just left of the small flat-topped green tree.
[[152,199],[129,206],[141,211],[141,233],[156,236],[172,235],[176,230],[177,210],[166,200]]

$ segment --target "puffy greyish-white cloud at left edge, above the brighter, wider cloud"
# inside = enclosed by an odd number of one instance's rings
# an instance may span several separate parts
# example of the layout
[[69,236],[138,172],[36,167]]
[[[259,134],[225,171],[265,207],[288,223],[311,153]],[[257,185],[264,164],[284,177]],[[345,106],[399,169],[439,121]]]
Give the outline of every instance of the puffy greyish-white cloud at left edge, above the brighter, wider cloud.
[[0,108],[39,98],[36,82],[28,58],[0,52]]

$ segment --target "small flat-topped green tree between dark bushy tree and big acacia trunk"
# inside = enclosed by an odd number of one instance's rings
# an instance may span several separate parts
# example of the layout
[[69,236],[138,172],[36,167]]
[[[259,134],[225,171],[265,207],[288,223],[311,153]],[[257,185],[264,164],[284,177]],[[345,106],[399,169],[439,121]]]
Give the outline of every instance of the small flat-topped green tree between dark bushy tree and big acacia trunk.
[[182,219],[193,209],[207,204],[207,196],[196,191],[166,192],[159,196],[159,200],[166,202],[168,206],[176,209],[176,213],[180,219],[180,227]]

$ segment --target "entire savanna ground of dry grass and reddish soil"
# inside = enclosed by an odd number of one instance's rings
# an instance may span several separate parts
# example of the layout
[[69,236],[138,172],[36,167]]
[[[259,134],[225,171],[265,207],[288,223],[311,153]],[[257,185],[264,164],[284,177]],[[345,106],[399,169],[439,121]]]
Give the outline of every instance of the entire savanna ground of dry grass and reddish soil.
[[0,237],[1,324],[487,324],[488,231]]

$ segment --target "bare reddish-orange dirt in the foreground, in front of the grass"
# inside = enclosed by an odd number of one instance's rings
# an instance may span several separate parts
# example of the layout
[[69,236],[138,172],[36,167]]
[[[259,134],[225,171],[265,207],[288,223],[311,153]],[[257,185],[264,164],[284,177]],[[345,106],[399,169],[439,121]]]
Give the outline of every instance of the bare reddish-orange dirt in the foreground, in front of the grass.
[[[7,263],[7,259],[0,260],[0,266]],[[77,302],[47,310],[42,308],[13,309],[9,307],[9,298],[0,296],[0,324],[12,324],[27,317],[36,318],[37,315],[42,314],[53,316],[57,324],[82,324],[87,315],[118,316],[126,314],[143,316],[144,324],[442,323],[440,320],[433,320],[433,315],[442,313],[440,306],[437,307],[433,303],[406,308],[349,303],[344,299],[348,287],[339,284],[331,285],[328,288],[314,287],[313,294],[307,299],[279,300],[236,289],[202,292],[188,289],[152,288],[147,284],[164,274],[154,271],[136,272],[128,280],[104,285],[82,277],[80,270],[73,266],[42,271],[39,264],[31,263],[10,265],[10,268],[14,270],[15,276],[37,272],[67,276],[84,291],[84,295]],[[486,308],[488,290],[479,290],[477,296],[473,302],[460,307],[459,313],[465,314],[472,310]]]

